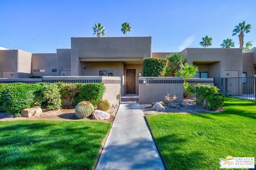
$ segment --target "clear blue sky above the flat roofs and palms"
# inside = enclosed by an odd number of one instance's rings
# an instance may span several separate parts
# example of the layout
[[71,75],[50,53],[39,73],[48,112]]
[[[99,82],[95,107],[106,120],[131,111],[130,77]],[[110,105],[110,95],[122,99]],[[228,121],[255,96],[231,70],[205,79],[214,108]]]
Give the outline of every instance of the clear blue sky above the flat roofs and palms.
[[220,47],[239,22],[252,24],[245,43],[256,46],[256,1],[0,1],[0,46],[33,53],[55,53],[70,47],[70,37],[92,37],[95,22],[106,37],[124,36],[122,22],[131,24],[129,36],[152,36],[153,52],[179,52],[199,47],[205,35]]

